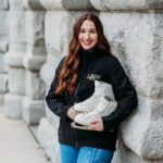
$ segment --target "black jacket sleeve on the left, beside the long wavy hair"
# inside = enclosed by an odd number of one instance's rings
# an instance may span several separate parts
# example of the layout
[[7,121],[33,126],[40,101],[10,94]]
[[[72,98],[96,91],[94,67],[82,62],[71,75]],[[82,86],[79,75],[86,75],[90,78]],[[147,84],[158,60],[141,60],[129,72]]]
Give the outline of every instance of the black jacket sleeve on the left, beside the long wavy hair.
[[55,88],[58,86],[58,75],[59,75],[59,72],[62,67],[63,60],[64,60],[64,58],[61,60],[61,62],[59,63],[59,65],[57,67],[55,76],[54,76],[52,84],[50,86],[50,90],[49,90],[48,95],[46,96],[46,102],[47,102],[49,109],[55,115],[58,115],[61,118],[64,118],[66,121],[70,121],[70,118],[66,116],[66,114],[67,114],[68,109],[72,105],[65,105],[64,102],[62,101],[62,96],[54,93]]

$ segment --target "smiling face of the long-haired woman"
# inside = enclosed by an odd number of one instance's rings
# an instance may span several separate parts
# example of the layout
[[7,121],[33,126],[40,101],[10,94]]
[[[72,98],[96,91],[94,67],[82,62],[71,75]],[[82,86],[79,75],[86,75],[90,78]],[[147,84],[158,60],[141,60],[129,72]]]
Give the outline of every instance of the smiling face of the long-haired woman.
[[80,26],[78,41],[84,50],[91,50],[98,42],[98,33],[95,23],[86,20]]

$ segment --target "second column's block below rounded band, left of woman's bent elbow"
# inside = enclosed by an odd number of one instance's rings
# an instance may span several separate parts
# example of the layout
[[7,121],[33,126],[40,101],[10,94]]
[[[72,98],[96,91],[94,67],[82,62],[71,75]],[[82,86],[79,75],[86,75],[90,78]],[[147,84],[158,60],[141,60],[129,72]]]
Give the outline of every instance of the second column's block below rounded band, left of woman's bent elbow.
[[27,71],[26,74],[26,95],[32,100],[45,99],[46,86],[40,79],[38,72]]

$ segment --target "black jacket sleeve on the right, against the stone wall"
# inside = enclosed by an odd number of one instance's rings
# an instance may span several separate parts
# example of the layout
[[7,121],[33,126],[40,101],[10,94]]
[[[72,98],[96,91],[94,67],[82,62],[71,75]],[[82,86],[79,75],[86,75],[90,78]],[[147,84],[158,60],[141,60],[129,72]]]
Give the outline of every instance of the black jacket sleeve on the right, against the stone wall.
[[113,58],[109,71],[112,87],[117,101],[117,106],[110,115],[102,117],[104,130],[117,127],[137,106],[137,95],[121,63]]

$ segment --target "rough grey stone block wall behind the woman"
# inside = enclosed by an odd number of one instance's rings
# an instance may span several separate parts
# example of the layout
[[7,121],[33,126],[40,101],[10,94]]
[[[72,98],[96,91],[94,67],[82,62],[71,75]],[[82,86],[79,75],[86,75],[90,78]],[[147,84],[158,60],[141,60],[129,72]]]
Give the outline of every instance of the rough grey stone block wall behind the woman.
[[45,96],[66,55],[75,20],[93,12],[139,99],[121,125],[113,163],[163,163],[162,10],[162,0],[0,0],[0,103],[5,116],[39,123],[40,146],[52,163],[60,163],[59,117]]

